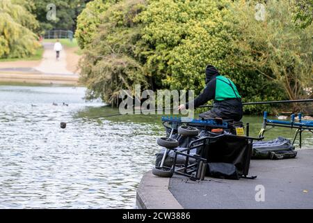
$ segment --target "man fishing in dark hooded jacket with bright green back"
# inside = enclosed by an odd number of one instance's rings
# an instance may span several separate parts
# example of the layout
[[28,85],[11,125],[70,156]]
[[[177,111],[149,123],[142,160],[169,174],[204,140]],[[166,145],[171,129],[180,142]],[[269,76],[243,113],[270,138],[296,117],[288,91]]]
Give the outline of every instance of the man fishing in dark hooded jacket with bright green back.
[[214,100],[214,107],[208,112],[200,114],[200,118],[223,118],[240,121],[243,116],[241,95],[234,83],[227,77],[220,75],[214,66],[207,66],[205,70],[205,84],[207,85],[195,100],[179,105],[178,109],[188,109],[204,105],[209,100]]

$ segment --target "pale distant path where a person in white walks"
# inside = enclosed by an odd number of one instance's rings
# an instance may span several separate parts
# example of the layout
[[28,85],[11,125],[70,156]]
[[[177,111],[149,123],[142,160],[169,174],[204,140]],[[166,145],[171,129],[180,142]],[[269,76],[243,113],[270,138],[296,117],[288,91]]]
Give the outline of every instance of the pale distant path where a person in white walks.
[[45,48],[45,52],[40,65],[35,67],[35,70],[45,74],[76,75],[67,70],[66,50],[64,47],[60,53],[60,59],[57,61],[54,43],[42,43],[42,45]]

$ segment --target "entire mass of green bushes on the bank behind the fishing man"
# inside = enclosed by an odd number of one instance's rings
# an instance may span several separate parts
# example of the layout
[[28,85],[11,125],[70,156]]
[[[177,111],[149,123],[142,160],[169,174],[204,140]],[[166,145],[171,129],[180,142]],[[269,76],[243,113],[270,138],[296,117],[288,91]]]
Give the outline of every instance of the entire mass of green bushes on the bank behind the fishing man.
[[[243,101],[312,97],[312,25],[297,29],[288,1],[95,0],[79,16],[88,98],[116,104],[120,89],[204,88],[204,68],[230,77]],[[259,113],[268,107],[245,107]]]

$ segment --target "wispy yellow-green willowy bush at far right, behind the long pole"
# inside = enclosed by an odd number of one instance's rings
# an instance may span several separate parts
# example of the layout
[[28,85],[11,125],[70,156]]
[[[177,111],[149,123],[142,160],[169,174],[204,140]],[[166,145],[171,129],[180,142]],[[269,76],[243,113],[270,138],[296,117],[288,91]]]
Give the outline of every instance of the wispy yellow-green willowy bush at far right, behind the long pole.
[[312,87],[312,25],[296,29],[289,1],[268,1],[265,21],[255,20],[254,7],[243,1],[234,3],[236,35],[228,63],[244,73],[257,71],[256,75],[265,78],[264,84],[271,84],[266,91],[273,97],[278,93],[290,100],[312,97],[305,91]]

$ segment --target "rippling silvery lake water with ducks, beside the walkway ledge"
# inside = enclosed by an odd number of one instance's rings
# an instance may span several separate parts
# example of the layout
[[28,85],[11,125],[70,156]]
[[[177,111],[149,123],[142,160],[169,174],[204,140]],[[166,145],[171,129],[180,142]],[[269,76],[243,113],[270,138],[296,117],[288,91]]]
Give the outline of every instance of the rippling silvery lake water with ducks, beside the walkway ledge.
[[[84,94],[81,87],[0,86],[0,208],[136,208],[138,183],[160,149],[161,116],[102,118],[61,129],[61,121],[118,112],[85,102]],[[257,135],[262,117],[244,121]],[[276,128],[266,139],[293,134]],[[312,134],[304,138],[305,147],[313,147]]]

